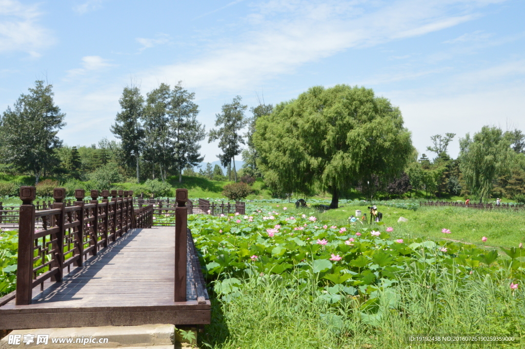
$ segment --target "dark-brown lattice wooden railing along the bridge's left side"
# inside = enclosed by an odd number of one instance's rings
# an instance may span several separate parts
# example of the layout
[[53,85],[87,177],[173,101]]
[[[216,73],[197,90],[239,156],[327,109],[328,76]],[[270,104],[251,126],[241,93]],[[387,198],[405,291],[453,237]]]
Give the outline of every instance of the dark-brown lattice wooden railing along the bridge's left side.
[[[150,228],[153,205],[133,209],[133,192],[91,191],[85,202],[85,191],[75,191],[76,202],[64,203],[66,189],[54,189],[51,207],[37,209],[33,204],[36,189],[20,187],[18,223],[18,266],[16,291],[0,299],[0,305],[16,298],[15,304],[30,304],[33,288],[51,279],[61,282],[64,269],[82,266],[90,256],[116,241],[133,228]],[[41,223],[38,225],[37,223]]]

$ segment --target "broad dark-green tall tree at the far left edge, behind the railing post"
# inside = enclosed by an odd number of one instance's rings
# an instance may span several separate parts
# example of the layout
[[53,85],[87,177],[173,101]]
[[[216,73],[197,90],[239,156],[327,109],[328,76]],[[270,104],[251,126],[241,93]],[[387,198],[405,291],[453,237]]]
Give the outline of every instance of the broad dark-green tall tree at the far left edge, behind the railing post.
[[33,173],[36,184],[55,162],[55,149],[62,145],[57,132],[66,125],[66,114],[55,105],[52,88],[43,80],[35,81],[35,87],[21,94],[14,109],[7,107],[0,119],[4,162]]

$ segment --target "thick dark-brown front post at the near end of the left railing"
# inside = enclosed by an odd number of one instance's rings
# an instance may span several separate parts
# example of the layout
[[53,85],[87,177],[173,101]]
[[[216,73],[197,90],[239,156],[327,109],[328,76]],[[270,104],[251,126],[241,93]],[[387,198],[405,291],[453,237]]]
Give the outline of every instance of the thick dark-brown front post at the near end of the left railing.
[[18,221],[18,266],[16,270],[16,305],[31,304],[33,299],[33,236],[35,235],[35,187],[20,187]]

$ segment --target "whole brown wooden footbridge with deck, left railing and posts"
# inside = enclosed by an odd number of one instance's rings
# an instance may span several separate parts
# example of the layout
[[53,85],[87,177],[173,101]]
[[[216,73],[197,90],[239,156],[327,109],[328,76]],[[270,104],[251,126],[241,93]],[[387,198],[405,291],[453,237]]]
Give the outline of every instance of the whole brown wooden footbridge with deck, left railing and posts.
[[35,194],[20,188],[16,291],[0,298],[0,330],[210,323],[186,189],[176,191],[175,227],[152,227],[153,205],[135,209],[132,192],[102,191],[99,203],[91,191],[85,203],[78,189],[67,206],[56,188],[42,210]]

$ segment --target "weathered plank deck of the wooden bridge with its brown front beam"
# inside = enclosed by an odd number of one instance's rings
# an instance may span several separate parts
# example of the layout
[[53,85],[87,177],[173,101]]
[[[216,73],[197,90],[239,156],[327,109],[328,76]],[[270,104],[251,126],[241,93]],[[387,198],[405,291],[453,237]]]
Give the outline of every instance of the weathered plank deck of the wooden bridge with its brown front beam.
[[191,235],[187,301],[173,301],[174,245],[174,227],[133,229],[82,267],[65,271],[61,283],[35,288],[32,304],[1,306],[0,329],[209,323],[211,303]]

